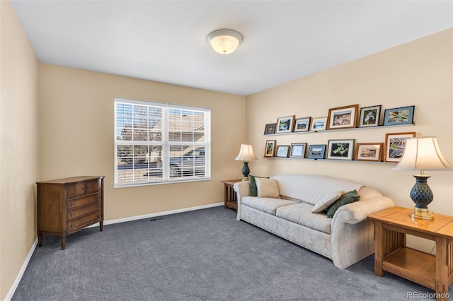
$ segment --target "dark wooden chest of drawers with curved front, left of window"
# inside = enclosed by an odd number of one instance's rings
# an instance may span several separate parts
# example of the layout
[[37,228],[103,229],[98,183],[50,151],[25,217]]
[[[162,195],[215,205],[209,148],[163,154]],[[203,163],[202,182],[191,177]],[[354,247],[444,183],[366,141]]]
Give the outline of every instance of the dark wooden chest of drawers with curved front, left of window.
[[38,246],[42,235],[61,237],[62,249],[67,235],[88,225],[104,221],[104,177],[70,177],[37,182]]

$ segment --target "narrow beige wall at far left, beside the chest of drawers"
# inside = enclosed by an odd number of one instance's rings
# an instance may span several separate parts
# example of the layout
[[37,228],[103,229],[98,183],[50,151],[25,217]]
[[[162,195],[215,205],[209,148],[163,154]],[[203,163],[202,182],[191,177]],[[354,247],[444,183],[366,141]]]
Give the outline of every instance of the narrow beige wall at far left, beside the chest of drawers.
[[8,1],[0,1],[0,300],[36,237],[38,59]]

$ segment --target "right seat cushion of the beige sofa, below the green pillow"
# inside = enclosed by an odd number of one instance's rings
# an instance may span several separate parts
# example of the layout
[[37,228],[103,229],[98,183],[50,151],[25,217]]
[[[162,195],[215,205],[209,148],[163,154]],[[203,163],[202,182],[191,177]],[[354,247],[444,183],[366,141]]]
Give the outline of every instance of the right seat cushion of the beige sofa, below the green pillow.
[[326,218],[324,213],[311,213],[311,208],[313,206],[308,203],[295,203],[278,208],[275,215],[306,228],[331,234],[331,218]]

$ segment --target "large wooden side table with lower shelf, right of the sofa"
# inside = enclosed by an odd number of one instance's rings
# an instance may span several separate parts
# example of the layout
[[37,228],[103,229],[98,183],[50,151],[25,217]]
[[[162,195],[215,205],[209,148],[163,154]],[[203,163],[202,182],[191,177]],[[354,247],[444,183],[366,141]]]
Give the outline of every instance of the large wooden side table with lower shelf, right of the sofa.
[[[434,220],[420,220],[409,216],[412,211],[394,207],[368,216],[374,222],[374,273],[384,276],[389,271],[435,290],[437,300],[448,300],[453,283],[453,216],[435,214]],[[406,247],[407,234],[435,241],[435,256]]]

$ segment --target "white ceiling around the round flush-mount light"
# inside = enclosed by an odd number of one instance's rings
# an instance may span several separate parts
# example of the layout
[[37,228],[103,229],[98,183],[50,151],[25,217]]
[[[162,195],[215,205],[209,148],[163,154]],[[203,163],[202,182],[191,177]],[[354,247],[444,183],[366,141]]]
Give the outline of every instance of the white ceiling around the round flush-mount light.
[[[453,28],[453,1],[11,1],[38,59],[250,95]],[[243,35],[217,54],[213,30]]]

